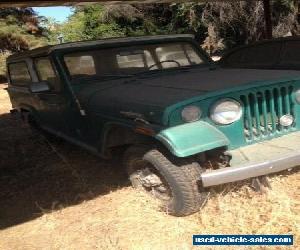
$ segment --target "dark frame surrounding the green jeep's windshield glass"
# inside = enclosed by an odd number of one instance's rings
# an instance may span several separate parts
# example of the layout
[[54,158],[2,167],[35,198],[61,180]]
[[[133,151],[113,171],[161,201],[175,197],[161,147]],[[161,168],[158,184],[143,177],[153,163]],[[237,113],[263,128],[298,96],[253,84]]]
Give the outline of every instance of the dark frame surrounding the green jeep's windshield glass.
[[[129,42],[129,43],[124,43],[120,44],[119,46],[117,44],[106,44],[106,45],[96,45],[96,46],[87,46],[87,47],[82,47],[82,48],[68,48],[64,49],[61,51],[62,53],[58,53],[58,59],[60,61],[60,65],[63,68],[63,71],[65,72],[67,79],[72,82],[72,84],[76,84],[76,82],[79,82],[80,80],[93,80],[95,78],[101,79],[102,77],[100,75],[91,75],[91,76],[85,76],[85,77],[80,77],[80,78],[72,78],[69,69],[65,63],[64,57],[68,54],[73,54],[73,53],[81,53],[81,52],[89,52],[89,51],[95,51],[95,50],[105,50],[105,49],[114,49],[114,48],[130,48],[134,46],[140,46],[142,47],[147,46],[147,45],[159,45],[159,44],[171,44],[171,43],[187,43],[190,44],[195,53],[203,60],[203,63],[201,64],[194,64],[194,65],[185,65],[181,67],[170,67],[170,68],[164,68],[164,69],[154,69],[154,70],[146,70],[146,71],[141,71],[141,72],[136,72],[133,74],[120,74],[119,77],[134,77],[134,76],[141,76],[142,74],[162,74],[162,73],[167,73],[167,72],[174,72],[174,71],[182,71],[184,69],[189,69],[189,68],[197,68],[197,67],[211,67],[215,66],[215,63],[211,60],[211,58],[208,56],[208,54],[198,45],[198,43],[192,39],[192,38],[184,38],[184,39],[165,39],[165,40],[149,40],[149,41],[140,41],[140,42]],[[113,76],[113,79],[118,78],[118,74]],[[107,80],[109,77],[106,77],[105,74],[103,75],[103,80]]]

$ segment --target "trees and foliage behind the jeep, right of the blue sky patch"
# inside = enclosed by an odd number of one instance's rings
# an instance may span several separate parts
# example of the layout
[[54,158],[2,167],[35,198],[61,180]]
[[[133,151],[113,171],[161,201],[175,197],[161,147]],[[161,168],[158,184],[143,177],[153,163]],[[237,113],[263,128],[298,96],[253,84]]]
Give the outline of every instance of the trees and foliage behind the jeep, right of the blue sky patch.
[[[299,33],[296,1],[272,2],[274,35]],[[147,5],[88,5],[74,8],[64,24],[57,24],[50,41],[100,39],[116,36],[193,33],[215,53],[265,37],[262,1],[176,3]]]

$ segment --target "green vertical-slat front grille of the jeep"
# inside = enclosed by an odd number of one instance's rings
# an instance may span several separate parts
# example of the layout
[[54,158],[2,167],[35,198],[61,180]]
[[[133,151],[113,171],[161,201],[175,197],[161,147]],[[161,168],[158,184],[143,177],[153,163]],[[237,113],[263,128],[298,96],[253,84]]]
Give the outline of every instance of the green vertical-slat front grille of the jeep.
[[278,132],[288,132],[295,126],[283,127],[279,118],[285,114],[293,115],[293,86],[275,87],[266,90],[251,91],[241,95],[244,105],[244,134],[246,140],[260,139]]

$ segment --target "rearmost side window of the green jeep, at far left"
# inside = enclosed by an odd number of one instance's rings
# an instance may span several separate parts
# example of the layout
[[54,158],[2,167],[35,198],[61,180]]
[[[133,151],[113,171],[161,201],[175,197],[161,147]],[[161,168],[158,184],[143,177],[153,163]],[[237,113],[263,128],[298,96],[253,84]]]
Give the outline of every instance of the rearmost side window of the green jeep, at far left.
[[8,65],[8,71],[12,85],[23,87],[31,83],[26,62],[11,63]]

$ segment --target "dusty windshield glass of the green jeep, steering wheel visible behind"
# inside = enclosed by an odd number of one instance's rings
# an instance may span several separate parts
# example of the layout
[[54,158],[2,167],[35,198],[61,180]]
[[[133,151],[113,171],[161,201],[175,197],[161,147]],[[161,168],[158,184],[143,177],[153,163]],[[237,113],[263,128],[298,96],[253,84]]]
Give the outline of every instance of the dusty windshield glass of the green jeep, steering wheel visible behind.
[[69,53],[64,56],[71,79],[133,75],[140,72],[207,64],[188,42],[145,44]]

